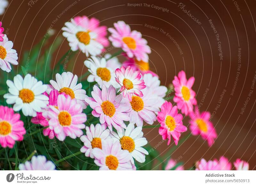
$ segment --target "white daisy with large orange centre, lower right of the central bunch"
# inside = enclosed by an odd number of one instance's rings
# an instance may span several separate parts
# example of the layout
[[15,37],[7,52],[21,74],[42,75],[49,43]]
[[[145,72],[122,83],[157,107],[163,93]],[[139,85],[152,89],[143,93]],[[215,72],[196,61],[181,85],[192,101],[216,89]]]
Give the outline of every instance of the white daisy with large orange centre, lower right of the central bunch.
[[[122,132],[110,132],[110,136],[113,140],[118,140],[123,150],[128,150],[132,157],[138,162],[145,162],[145,154],[148,155],[148,151],[143,149],[142,146],[146,145],[148,141],[143,136],[142,127],[134,128],[134,124],[130,123],[126,130]],[[131,158],[132,164],[134,160]]]

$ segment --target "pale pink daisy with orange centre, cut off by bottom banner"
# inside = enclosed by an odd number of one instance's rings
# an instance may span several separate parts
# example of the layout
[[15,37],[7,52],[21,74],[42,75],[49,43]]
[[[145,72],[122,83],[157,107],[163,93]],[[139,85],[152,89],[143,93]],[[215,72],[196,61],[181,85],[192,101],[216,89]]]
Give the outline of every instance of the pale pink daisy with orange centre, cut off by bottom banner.
[[100,170],[132,170],[131,154],[121,149],[121,144],[112,139],[102,140],[102,149],[94,148],[94,163]]

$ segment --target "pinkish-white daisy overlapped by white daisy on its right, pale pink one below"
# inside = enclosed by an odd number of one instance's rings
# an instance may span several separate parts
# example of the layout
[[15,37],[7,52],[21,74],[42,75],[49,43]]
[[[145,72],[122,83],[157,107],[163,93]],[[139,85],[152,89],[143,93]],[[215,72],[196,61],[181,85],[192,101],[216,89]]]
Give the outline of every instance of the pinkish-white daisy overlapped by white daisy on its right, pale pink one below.
[[86,127],[85,129],[86,135],[80,137],[80,140],[84,143],[80,151],[85,153],[86,157],[94,158],[92,149],[102,149],[101,141],[110,138],[109,130],[105,129],[105,127],[100,124],[96,124],[95,127],[91,124],[90,128]]

